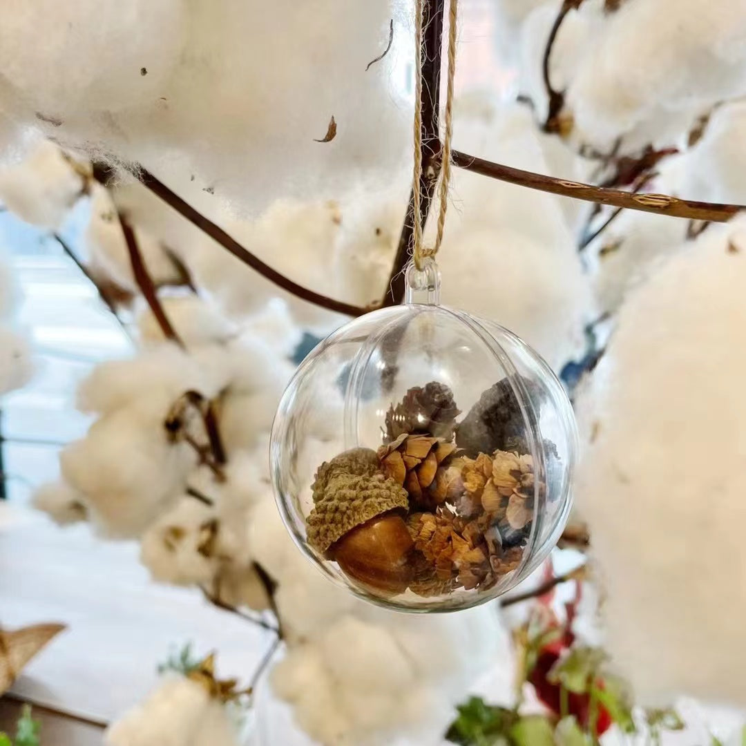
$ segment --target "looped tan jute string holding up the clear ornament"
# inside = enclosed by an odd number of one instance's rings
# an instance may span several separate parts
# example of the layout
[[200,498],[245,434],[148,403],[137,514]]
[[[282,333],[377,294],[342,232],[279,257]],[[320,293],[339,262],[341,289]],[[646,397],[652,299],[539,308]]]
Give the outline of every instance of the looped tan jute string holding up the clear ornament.
[[448,80],[445,93],[445,132],[442,145],[442,165],[440,169],[440,184],[438,190],[439,210],[438,225],[435,243],[432,246],[424,246],[422,243],[422,224],[420,219],[421,186],[422,175],[422,33],[423,33],[423,3],[424,0],[415,1],[415,60],[416,60],[416,93],[415,93],[415,158],[414,158],[414,231],[413,231],[413,258],[417,269],[422,269],[422,261],[426,257],[434,257],[443,240],[443,228],[445,226],[445,213],[448,210],[448,186],[451,181],[451,139],[453,136],[453,110],[454,110],[454,78],[456,77],[456,19],[458,12],[458,0],[450,0],[448,6]]

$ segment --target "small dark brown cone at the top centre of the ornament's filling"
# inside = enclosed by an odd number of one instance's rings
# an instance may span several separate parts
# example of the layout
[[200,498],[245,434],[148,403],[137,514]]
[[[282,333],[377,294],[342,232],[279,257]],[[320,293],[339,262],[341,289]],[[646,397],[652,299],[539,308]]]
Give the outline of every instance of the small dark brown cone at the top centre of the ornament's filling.
[[400,404],[386,413],[386,439],[391,442],[403,433],[429,435],[451,440],[460,411],[453,392],[442,383],[431,381],[424,388],[414,386]]

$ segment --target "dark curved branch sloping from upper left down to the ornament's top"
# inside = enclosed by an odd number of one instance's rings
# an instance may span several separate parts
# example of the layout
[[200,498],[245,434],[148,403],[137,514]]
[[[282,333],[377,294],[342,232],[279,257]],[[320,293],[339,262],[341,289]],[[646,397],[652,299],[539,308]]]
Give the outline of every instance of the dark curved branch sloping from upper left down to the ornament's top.
[[[102,184],[107,184],[110,178],[110,173],[106,168],[95,167],[93,170],[95,178]],[[322,308],[326,308],[330,311],[336,311],[336,313],[345,313],[347,316],[362,316],[363,313],[368,313],[372,308],[354,306],[348,303],[342,303],[342,301],[335,301],[333,298],[327,298],[326,295],[321,295],[318,292],[309,290],[298,283],[294,283],[285,275],[282,275],[276,269],[272,269],[269,264],[265,264],[259,257],[251,254],[251,251],[244,248],[236,239],[233,239],[228,235],[219,225],[216,225],[211,220],[207,219],[204,215],[194,209],[188,202],[184,201],[178,194],[169,189],[166,184],[158,181],[150,172],[145,169],[140,170],[140,181],[144,186],[147,186],[154,195],[160,197],[169,207],[172,207],[181,216],[184,216],[192,225],[195,225],[207,236],[210,236],[213,241],[219,243],[227,251],[230,251],[236,259],[239,259],[244,264],[247,264],[254,269],[255,272],[259,272],[264,278],[269,280],[275,285],[281,287],[292,295],[295,295],[301,300],[308,301],[309,303],[316,304]]]

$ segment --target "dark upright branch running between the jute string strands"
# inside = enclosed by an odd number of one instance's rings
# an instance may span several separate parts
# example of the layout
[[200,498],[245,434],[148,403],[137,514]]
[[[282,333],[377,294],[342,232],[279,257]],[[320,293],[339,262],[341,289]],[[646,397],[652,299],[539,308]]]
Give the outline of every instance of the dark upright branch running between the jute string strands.
[[[440,111],[440,68],[443,40],[444,0],[425,0],[422,10],[424,34],[420,50],[422,61],[422,174],[420,178],[420,214],[419,220],[424,228],[427,213],[438,181],[440,171],[440,138],[438,120]],[[404,266],[409,261],[413,250],[415,201],[410,192],[407,204],[407,215],[399,236],[394,264],[386,283],[382,306],[395,306],[404,300]]]

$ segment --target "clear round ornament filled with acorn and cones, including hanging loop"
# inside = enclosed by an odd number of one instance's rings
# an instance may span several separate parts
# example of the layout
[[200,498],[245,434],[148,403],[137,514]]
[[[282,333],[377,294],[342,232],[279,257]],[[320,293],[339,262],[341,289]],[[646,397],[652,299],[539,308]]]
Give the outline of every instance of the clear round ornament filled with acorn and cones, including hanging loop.
[[562,384],[504,327],[439,305],[433,260],[406,302],[340,327],[304,360],[272,427],[280,513],[336,583],[447,612],[513,588],[571,507]]

